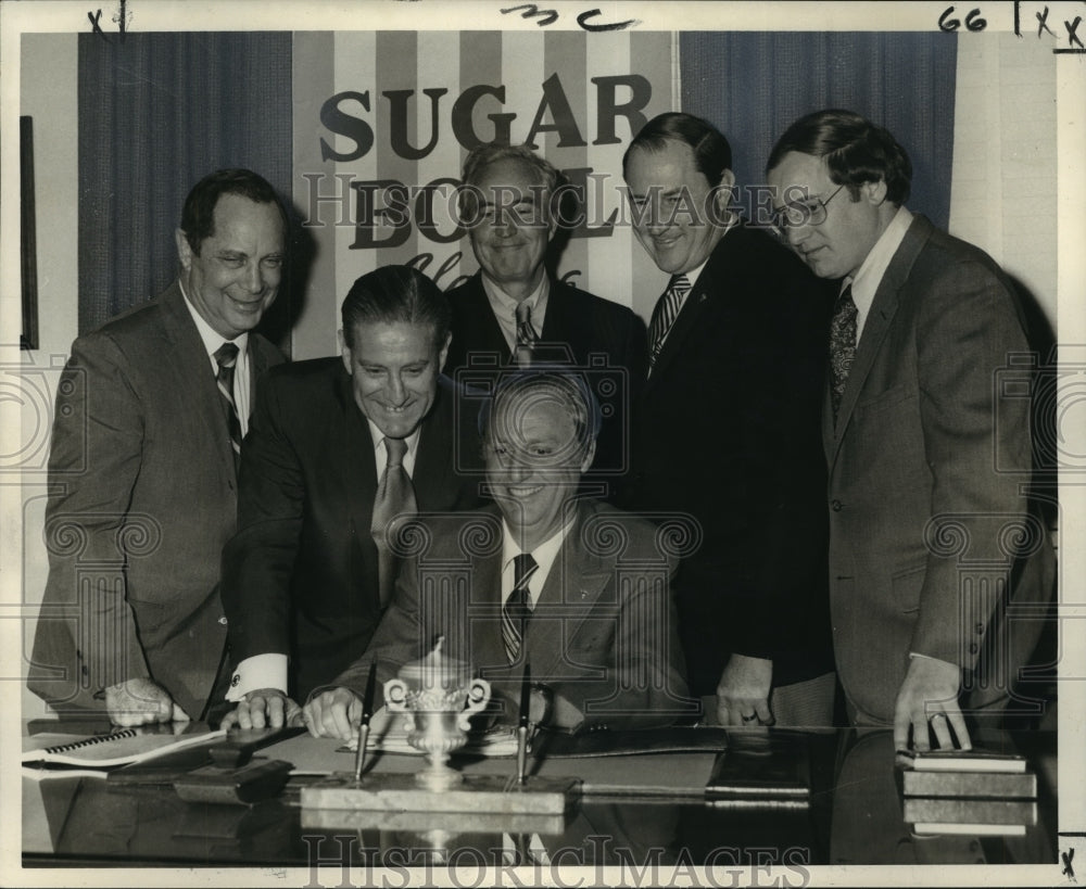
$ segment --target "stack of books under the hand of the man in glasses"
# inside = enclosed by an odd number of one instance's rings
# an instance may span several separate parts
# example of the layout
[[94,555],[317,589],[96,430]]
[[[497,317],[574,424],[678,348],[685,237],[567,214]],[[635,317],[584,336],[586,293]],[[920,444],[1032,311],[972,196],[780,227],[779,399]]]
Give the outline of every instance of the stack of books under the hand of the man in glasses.
[[1037,823],[1037,776],[1022,757],[934,750],[907,761],[904,815],[915,834],[1015,836]]

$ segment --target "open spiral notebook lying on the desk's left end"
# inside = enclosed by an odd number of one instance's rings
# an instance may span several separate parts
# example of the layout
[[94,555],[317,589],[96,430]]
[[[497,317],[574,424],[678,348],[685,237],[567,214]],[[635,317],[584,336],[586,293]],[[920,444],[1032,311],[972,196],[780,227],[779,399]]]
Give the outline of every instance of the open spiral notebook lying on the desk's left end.
[[109,770],[118,765],[146,762],[187,747],[207,744],[226,736],[226,729],[175,735],[152,727],[124,728],[105,735],[73,737],[71,735],[33,735],[24,738],[24,774],[36,769],[72,766]]

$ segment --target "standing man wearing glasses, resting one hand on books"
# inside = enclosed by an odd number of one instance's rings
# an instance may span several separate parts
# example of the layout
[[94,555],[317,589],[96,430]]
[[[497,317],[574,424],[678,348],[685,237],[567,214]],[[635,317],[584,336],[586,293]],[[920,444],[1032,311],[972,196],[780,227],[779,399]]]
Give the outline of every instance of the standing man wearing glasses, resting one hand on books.
[[1008,602],[1052,594],[1025,490],[1028,399],[998,384],[1028,348],[1016,296],[987,255],[905,207],[908,155],[860,115],[797,120],[768,169],[790,243],[842,279],[822,439],[850,715],[893,724],[898,749],[910,729],[927,749],[929,722],[939,746],[968,747],[961,706],[1005,704],[1037,640],[1040,622],[1013,621]]

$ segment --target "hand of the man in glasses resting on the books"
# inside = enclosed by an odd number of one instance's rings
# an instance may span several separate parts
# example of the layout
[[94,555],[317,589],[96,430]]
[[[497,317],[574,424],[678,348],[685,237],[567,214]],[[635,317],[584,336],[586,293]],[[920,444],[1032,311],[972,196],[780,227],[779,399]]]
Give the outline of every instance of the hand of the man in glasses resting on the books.
[[912,657],[909,672],[897,693],[894,706],[894,748],[909,749],[909,728],[917,750],[930,750],[927,725],[935,732],[936,746],[954,748],[950,729],[962,750],[972,748],[965,720],[958,707],[961,670],[957,664],[936,658]]

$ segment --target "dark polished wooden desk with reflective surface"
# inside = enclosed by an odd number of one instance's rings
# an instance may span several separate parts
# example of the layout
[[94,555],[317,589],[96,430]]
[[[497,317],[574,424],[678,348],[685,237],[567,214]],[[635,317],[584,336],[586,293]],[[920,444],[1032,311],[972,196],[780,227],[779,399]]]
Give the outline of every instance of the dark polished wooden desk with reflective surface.
[[[807,736],[811,797],[806,807],[711,804],[689,792],[704,780],[707,752],[552,760],[541,774],[610,782],[618,790],[585,796],[558,830],[535,841],[536,866],[624,867],[708,865],[749,868],[761,863],[799,885],[799,872],[821,864],[1052,864],[1056,848],[1056,737],[1011,733],[1037,773],[1038,818],[1025,836],[917,837],[902,821],[888,731],[842,729]],[[301,737],[307,759],[333,771],[351,755],[334,741]],[[283,745],[286,747],[287,745]],[[287,747],[289,750],[290,748]],[[295,748],[298,749],[298,748]],[[282,747],[264,753],[282,757]],[[296,764],[296,763],[295,763]],[[414,771],[420,760],[382,755],[375,767]],[[468,771],[512,772],[510,760],[468,763]],[[669,777],[670,776],[670,777]],[[299,805],[302,785],[251,808],[182,802],[169,786],[124,785],[99,778],[23,779],[23,860],[26,866],[433,866],[433,835],[381,826],[313,827]],[[673,780],[687,790],[645,796],[637,786]],[[622,790],[622,787],[632,788]],[[466,815],[441,835],[445,861],[477,868],[503,863],[507,830]],[[535,833],[535,831],[533,831]],[[748,872],[744,872],[750,877]],[[768,877],[762,880],[768,885]],[[643,877],[642,881],[651,881]],[[340,885],[338,881],[334,885]],[[586,884],[588,885],[588,884]]]

